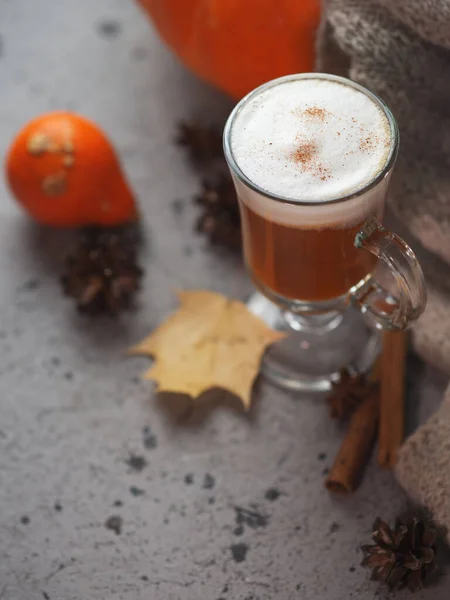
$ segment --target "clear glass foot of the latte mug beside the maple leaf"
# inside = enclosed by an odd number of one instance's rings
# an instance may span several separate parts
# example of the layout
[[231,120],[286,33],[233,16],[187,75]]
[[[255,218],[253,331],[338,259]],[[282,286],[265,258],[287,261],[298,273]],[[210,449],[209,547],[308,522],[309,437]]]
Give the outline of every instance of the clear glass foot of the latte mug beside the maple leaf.
[[259,292],[247,306],[272,329],[288,333],[267,349],[261,363],[261,373],[283,388],[328,391],[342,369],[365,373],[380,353],[380,333],[352,306],[341,313],[313,317],[318,319],[315,328],[310,326],[311,316],[303,321],[301,316],[285,313]]

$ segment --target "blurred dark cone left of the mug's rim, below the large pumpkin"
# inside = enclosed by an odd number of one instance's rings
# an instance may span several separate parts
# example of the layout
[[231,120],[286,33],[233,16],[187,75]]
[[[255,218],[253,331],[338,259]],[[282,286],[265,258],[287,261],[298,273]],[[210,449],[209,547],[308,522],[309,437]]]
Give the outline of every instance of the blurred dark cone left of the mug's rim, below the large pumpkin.
[[223,157],[222,135],[213,127],[181,122],[178,125],[176,142],[185,146],[191,158],[198,162]]

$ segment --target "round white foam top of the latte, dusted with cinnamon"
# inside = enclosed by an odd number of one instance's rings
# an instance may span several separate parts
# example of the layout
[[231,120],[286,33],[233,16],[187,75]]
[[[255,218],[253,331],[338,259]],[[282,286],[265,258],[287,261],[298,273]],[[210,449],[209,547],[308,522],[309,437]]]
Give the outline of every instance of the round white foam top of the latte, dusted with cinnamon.
[[364,188],[383,170],[393,144],[374,100],[319,78],[284,80],[248,99],[230,138],[248,179],[268,193],[308,203]]

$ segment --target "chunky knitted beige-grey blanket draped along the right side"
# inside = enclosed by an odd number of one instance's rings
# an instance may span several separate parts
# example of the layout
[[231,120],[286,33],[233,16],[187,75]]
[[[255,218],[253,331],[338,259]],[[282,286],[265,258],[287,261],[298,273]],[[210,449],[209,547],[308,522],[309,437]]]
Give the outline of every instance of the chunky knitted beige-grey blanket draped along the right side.
[[[413,344],[450,373],[450,0],[324,0],[318,50],[318,70],[371,88],[399,123],[389,202],[428,284]],[[397,467],[405,489],[450,531],[449,465],[450,388]]]

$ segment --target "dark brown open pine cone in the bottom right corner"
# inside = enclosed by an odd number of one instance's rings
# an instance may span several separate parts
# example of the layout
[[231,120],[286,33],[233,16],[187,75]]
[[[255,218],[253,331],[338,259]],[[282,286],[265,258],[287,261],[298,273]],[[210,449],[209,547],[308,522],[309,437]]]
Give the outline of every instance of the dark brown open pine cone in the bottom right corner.
[[361,547],[361,565],[373,569],[371,579],[387,583],[390,591],[422,589],[422,581],[435,570],[437,531],[432,523],[419,517],[397,519],[392,530],[378,517],[372,539],[375,544]]

